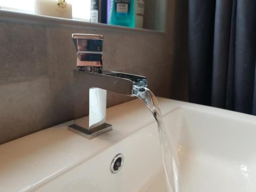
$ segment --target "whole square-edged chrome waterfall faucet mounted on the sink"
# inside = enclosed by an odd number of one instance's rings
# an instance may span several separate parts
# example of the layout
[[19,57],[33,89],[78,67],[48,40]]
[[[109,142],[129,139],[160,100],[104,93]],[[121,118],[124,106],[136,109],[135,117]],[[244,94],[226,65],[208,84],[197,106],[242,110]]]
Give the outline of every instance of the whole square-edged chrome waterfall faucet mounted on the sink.
[[[105,123],[106,90],[134,96],[133,84],[144,80],[143,76],[102,70],[103,36],[72,34],[77,50],[77,70],[74,78],[73,129],[86,134],[88,139],[112,130]],[[89,115],[89,117],[84,118]]]

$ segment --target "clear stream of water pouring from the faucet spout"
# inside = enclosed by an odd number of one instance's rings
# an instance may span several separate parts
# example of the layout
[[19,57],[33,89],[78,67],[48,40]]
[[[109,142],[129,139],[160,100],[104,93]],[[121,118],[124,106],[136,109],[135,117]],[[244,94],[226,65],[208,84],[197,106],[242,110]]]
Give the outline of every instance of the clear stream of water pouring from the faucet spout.
[[156,96],[146,87],[146,79],[139,79],[137,82],[134,81],[133,95],[141,99],[147,105],[157,121],[167,190],[169,192],[184,192],[181,185],[181,172],[176,145],[171,135],[169,134],[168,136],[168,130],[164,126]]

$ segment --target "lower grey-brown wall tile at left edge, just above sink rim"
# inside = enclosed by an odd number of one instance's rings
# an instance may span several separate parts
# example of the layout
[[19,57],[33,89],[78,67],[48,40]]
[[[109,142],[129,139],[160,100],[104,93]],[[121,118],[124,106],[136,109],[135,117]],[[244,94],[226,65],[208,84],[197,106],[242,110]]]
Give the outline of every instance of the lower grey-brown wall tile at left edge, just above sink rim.
[[51,126],[49,79],[0,86],[0,143]]

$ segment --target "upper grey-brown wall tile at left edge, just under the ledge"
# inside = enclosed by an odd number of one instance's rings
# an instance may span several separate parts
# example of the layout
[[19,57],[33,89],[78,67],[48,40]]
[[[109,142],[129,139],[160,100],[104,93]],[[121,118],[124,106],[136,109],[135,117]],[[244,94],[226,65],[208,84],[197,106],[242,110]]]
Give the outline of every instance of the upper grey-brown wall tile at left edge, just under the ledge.
[[0,22],[0,84],[47,76],[46,30]]

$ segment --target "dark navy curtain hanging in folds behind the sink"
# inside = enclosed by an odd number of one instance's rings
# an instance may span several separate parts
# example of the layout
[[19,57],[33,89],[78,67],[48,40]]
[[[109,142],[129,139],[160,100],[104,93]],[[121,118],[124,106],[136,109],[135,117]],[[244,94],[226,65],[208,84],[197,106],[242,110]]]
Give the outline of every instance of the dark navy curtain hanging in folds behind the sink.
[[189,101],[256,115],[256,0],[189,0]]

